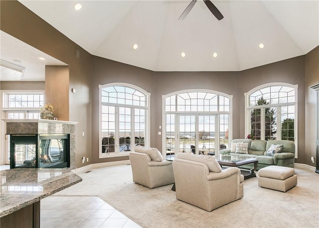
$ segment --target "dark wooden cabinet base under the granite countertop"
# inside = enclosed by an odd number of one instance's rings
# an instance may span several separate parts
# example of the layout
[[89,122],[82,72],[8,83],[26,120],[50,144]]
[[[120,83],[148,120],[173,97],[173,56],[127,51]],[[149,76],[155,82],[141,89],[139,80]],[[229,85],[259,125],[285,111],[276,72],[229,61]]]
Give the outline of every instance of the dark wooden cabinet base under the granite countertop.
[[40,201],[0,218],[1,228],[40,228]]

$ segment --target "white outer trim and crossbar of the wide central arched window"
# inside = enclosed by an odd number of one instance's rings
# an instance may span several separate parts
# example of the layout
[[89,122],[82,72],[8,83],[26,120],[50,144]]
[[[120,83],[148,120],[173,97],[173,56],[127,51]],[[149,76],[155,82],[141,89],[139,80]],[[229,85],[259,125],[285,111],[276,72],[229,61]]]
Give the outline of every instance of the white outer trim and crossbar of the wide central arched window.
[[[188,92],[207,92],[207,93],[213,93],[213,94],[217,94],[217,95],[222,95],[225,97],[229,98],[229,109],[230,112],[178,112],[177,110],[175,110],[175,112],[167,112],[165,111],[165,98],[172,96],[172,95],[177,95],[180,93],[188,93]],[[177,103],[176,103],[177,104]],[[217,104],[219,104],[219,99],[217,100]],[[215,91],[215,90],[198,90],[198,89],[188,89],[188,90],[179,90],[179,91],[175,91],[169,94],[165,94],[162,95],[162,125],[161,125],[161,141],[162,141],[162,156],[166,157],[166,150],[164,148],[166,148],[166,114],[175,114],[175,123],[177,123],[177,115],[178,114],[229,114],[229,119],[228,119],[228,147],[230,148],[230,142],[232,141],[232,136],[233,136],[233,95],[229,95],[229,94],[225,94],[219,91]],[[218,130],[219,132],[219,122],[220,119],[218,118],[219,116],[217,115],[216,118],[216,131]],[[216,140],[216,144],[219,144],[219,138]],[[215,151],[215,154],[219,153],[219,148],[217,148],[217,151]]]

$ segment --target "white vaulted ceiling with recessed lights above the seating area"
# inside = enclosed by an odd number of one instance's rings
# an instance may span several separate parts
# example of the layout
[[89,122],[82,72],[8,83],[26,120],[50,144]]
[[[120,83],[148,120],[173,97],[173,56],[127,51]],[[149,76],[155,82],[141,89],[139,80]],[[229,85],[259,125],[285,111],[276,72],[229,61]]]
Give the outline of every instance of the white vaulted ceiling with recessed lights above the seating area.
[[191,0],[19,1],[89,53],[153,71],[241,71],[319,45],[318,0],[212,0],[220,21],[202,0],[182,21]]

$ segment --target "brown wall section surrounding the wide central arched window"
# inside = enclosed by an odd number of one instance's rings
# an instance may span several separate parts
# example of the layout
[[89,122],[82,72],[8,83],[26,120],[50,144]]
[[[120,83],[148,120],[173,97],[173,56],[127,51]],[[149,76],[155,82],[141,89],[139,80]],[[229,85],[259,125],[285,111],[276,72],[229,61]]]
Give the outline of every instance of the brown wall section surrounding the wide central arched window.
[[[154,133],[156,147],[162,149],[162,95],[181,90],[212,90],[233,96],[233,138],[239,137],[239,72],[156,72],[156,120]],[[162,129],[165,129],[162,126]],[[163,139],[165,140],[165,139]]]

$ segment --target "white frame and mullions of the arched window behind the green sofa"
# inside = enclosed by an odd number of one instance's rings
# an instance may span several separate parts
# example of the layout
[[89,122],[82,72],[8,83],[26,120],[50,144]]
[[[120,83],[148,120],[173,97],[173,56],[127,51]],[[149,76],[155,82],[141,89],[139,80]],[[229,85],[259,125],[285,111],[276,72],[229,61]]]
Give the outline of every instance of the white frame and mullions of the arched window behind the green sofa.
[[[266,83],[260,86],[257,86],[253,89],[251,89],[250,91],[248,91],[247,93],[245,93],[245,135],[250,134],[250,110],[253,109],[251,106],[249,106],[249,96],[252,95],[253,93],[257,92],[258,90],[267,88],[267,87],[271,87],[271,86],[286,86],[286,87],[290,87],[292,89],[295,89],[295,102],[289,102],[289,103],[278,103],[278,104],[270,104],[270,105],[262,105],[262,106],[253,106],[255,109],[258,108],[278,108],[278,107],[284,107],[284,106],[295,106],[295,120],[294,120],[294,130],[295,130],[295,158],[298,158],[298,85],[293,85],[293,84],[289,84],[289,83],[282,83],[282,82],[274,82],[274,83]],[[277,110],[277,116],[280,114],[280,112],[278,113]],[[261,119],[263,120],[263,115],[261,116]],[[281,123],[281,122],[280,122]],[[263,124],[262,124],[263,125]],[[278,125],[278,124],[277,124]],[[263,127],[261,128],[263,129]],[[277,127],[277,131],[278,129],[281,129],[281,125],[279,126],[279,128]],[[264,132],[261,133],[261,136],[264,136]],[[262,139],[263,139],[262,137]],[[264,140],[264,139],[263,139]],[[280,140],[280,139],[277,139]]]

